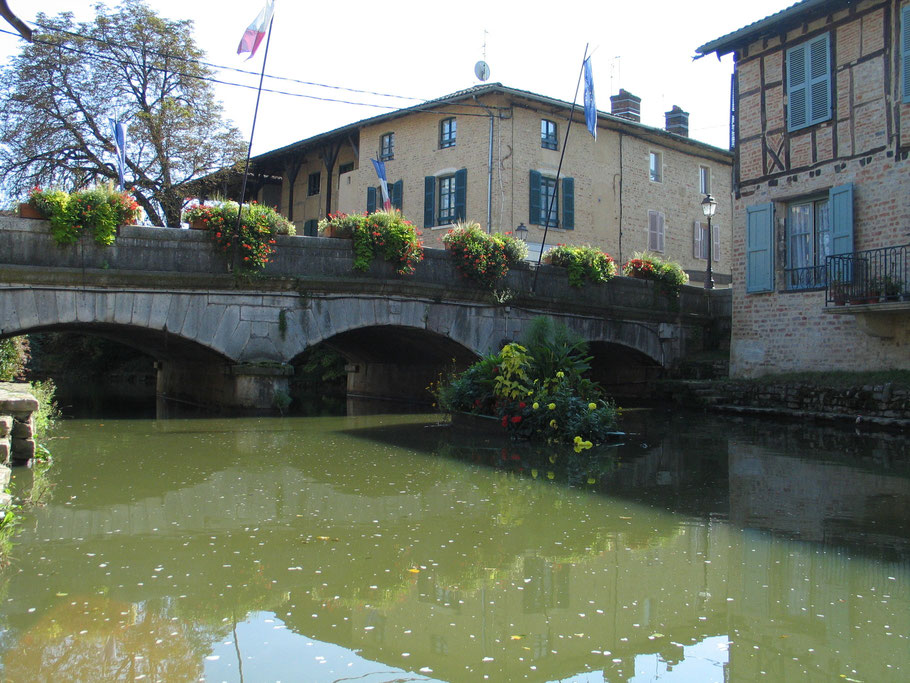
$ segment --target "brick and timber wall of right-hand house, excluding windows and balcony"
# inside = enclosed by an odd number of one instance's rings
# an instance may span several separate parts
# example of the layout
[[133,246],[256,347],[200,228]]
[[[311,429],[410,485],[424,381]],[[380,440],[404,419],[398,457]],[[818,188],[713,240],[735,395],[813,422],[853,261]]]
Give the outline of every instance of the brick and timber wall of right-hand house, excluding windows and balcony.
[[[891,66],[897,0],[866,0],[742,50],[736,66],[739,183],[734,204],[730,373],[910,368],[910,311],[894,334],[863,332],[853,315],[825,313],[824,291],[783,291],[786,206],[854,185],[854,250],[910,242],[910,106]],[[786,125],[785,51],[827,31],[833,58],[832,118],[792,133]],[[748,106],[747,106],[748,105]],[[775,290],[745,292],[749,206],[775,203]]]

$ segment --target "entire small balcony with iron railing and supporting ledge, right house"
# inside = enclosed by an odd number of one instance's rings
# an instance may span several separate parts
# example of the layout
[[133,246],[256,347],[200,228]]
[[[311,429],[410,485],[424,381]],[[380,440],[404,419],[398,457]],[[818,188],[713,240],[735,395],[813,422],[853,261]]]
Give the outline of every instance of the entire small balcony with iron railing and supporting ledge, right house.
[[853,315],[864,332],[891,338],[910,319],[910,244],[828,256],[825,312]]

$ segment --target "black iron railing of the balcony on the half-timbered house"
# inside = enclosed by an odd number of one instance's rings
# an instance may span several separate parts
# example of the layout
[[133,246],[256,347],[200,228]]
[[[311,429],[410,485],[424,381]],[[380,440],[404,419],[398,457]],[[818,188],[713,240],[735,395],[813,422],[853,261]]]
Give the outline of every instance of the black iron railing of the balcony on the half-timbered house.
[[829,256],[825,305],[910,301],[910,244]]

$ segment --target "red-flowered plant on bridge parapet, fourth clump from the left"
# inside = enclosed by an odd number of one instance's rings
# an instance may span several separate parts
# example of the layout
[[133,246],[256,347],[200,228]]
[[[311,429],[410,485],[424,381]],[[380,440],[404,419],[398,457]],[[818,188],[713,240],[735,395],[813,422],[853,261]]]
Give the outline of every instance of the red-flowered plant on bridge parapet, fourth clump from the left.
[[456,224],[442,241],[461,276],[491,290],[509,272],[509,266],[527,255],[527,246],[520,240],[507,234],[488,235],[476,222]]

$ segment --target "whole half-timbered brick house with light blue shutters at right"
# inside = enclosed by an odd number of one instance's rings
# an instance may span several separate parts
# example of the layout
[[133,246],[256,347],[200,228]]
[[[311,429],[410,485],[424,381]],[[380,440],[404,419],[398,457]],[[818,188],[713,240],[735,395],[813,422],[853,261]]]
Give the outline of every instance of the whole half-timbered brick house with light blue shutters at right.
[[730,372],[910,368],[910,2],[804,0],[734,54]]

